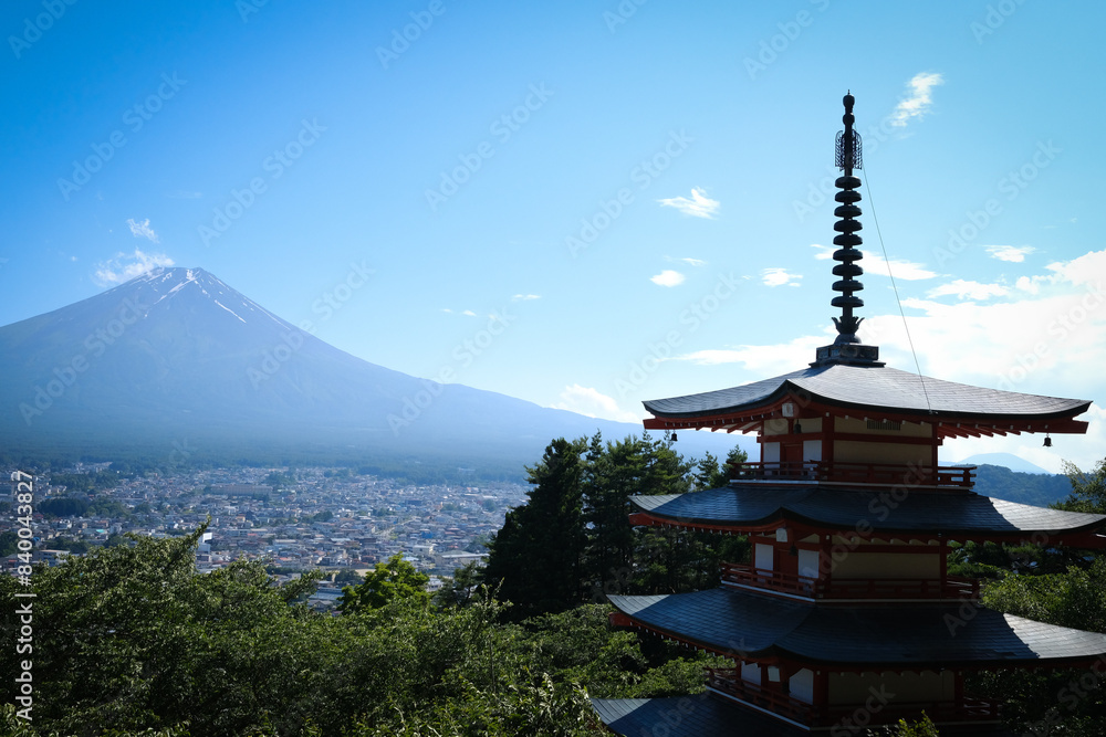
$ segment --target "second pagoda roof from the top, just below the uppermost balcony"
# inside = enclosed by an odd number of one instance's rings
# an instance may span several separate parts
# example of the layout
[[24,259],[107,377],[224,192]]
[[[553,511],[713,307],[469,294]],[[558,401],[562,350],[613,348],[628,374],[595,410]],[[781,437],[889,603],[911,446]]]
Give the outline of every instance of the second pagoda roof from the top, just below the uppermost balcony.
[[1035,507],[973,492],[908,487],[899,494],[815,484],[734,483],[687,494],[632,496],[630,502],[657,524],[734,531],[794,522],[827,530],[852,531],[863,526],[873,535],[941,534],[958,539],[1040,533],[1046,540],[1060,541],[1064,536],[1093,534],[1106,524],[1106,515]]

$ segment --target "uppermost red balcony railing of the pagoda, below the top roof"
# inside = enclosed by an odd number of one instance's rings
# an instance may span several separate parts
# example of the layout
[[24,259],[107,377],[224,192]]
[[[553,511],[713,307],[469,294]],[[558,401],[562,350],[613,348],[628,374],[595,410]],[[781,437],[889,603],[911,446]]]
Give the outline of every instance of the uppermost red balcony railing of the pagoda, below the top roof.
[[732,481],[801,481],[879,486],[949,486],[971,488],[975,466],[842,463],[837,461],[759,461],[730,465]]

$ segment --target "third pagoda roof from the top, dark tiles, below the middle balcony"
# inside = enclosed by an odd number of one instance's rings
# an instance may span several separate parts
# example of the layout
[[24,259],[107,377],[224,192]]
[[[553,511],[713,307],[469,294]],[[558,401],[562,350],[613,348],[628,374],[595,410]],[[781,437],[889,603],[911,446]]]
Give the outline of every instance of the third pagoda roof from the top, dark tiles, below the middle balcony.
[[1075,665],[1106,655],[1106,635],[963,603],[820,607],[744,590],[612,596],[634,623],[740,660],[833,668]]

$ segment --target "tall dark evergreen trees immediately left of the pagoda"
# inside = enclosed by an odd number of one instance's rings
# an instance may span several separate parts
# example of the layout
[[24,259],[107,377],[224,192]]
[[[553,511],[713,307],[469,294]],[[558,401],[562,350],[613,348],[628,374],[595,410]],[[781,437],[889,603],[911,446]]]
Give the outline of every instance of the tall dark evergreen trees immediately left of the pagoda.
[[[727,463],[744,460],[735,448]],[[550,463],[571,467],[571,482],[551,473]],[[543,484],[530,492],[528,504],[508,513],[484,570],[484,580],[502,581],[504,598],[518,604],[515,618],[604,602],[616,593],[710,588],[722,560],[748,557],[744,537],[630,525],[632,496],[718,487],[730,475],[712,455],[689,463],[668,436],[560,440],[531,473],[533,483]]]

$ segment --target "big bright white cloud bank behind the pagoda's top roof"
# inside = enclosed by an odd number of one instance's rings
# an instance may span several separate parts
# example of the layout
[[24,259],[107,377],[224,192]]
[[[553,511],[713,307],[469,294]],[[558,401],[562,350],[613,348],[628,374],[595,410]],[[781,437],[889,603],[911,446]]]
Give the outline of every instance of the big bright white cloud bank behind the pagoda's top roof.
[[[1047,273],[1026,277],[1036,293],[1013,291],[990,302],[945,304],[909,298],[904,305],[917,314],[907,322],[926,376],[1008,391],[1073,397],[1096,402],[1078,418],[1091,423],[1085,435],[1043,435],[949,440],[942,462],[974,453],[1013,453],[1048,471],[1061,459],[1083,468],[1100,461],[1106,449],[1106,250],[1047,266]],[[863,312],[863,310],[862,310]],[[910,345],[898,314],[868,314],[859,336],[879,346],[880,360],[914,371]],[[814,349],[833,340],[827,325],[817,335],[762,346],[724,347],[679,356],[699,365],[733,364],[745,381],[765,379],[806,366]],[[737,371],[737,369],[735,369]],[[735,383],[735,382],[734,382]],[[714,387],[718,388],[718,387]]]

